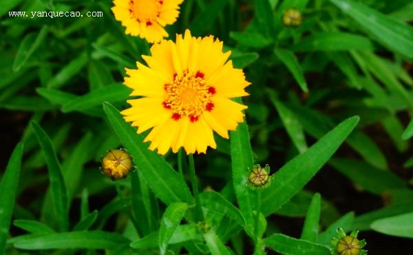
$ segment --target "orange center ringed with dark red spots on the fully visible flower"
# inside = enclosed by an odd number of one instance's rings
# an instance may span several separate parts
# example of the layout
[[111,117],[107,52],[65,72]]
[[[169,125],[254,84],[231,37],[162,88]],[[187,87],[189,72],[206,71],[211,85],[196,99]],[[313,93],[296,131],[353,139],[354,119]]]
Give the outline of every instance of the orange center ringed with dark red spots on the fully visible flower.
[[176,75],[172,82],[165,84],[165,91],[167,98],[163,105],[171,109],[173,120],[188,117],[191,122],[195,122],[202,111],[213,109],[211,96],[215,88],[207,85],[201,71],[195,74],[184,71],[182,75]]

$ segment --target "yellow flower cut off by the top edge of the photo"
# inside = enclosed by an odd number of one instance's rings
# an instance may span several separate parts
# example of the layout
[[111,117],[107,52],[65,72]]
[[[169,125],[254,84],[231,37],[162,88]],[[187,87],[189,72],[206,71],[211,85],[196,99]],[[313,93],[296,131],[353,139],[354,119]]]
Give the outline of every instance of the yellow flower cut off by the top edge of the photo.
[[163,27],[171,25],[179,15],[183,0],[114,0],[115,19],[126,27],[126,34],[140,36],[149,43],[159,42],[168,33]]

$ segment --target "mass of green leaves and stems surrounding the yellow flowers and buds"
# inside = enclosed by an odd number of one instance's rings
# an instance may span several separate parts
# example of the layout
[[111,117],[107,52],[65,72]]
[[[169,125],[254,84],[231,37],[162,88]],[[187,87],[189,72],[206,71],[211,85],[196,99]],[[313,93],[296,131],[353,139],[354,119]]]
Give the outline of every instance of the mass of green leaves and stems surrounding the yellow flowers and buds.
[[[167,39],[219,38],[251,82],[232,99],[244,121],[189,162],[120,113],[151,44],[112,5],[0,1],[0,254],[327,255],[338,228],[412,240],[411,1],[184,0]],[[291,8],[301,25],[284,25]],[[134,167],[114,182],[101,159],[120,147]],[[264,187],[248,185],[255,164],[271,166]]]

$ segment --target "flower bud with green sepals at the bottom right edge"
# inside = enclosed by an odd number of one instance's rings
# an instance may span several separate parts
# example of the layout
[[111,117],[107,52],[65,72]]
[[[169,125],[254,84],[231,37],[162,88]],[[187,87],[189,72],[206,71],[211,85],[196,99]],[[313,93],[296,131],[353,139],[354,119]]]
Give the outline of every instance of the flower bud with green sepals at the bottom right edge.
[[331,251],[332,254],[338,255],[365,255],[366,250],[361,250],[366,245],[366,241],[357,239],[359,230],[354,230],[349,236],[343,229],[339,228],[337,230],[338,239],[333,238],[331,243],[334,246]]

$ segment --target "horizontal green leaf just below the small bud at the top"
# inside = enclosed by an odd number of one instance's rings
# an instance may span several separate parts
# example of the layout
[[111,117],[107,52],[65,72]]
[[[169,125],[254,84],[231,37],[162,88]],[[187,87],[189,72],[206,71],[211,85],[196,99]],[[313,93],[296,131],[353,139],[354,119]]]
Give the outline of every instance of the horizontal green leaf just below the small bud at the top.
[[357,34],[343,32],[322,32],[313,34],[293,45],[292,49],[295,52],[310,52],[310,51],[346,51],[351,49],[373,50],[372,42]]

